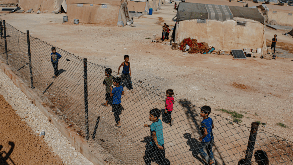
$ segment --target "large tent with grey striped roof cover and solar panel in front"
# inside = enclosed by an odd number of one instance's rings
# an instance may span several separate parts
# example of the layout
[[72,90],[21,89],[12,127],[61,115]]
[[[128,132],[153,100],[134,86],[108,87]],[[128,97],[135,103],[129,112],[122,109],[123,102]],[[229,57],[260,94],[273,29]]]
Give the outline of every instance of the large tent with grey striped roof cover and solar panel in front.
[[217,50],[262,48],[267,53],[264,17],[258,9],[180,2],[175,43],[185,38],[205,42]]

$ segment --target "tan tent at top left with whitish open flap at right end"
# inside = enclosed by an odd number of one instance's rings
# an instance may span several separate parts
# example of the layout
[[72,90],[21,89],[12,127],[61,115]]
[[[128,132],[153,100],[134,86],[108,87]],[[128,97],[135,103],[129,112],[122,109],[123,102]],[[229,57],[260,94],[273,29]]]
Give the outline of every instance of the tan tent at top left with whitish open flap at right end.
[[20,0],[21,10],[48,11],[58,13],[61,7],[66,11],[66,0]]

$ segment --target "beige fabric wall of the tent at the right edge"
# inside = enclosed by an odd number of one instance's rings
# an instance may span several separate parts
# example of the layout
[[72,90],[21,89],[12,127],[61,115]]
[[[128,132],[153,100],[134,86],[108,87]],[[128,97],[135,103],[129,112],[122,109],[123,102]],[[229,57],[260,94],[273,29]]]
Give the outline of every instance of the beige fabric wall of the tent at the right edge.
[[[275,11],[276,13],[273,13]],[[289,15],[291,14],[291,16]],[[268,21],[275,20],[282,26],[293,26],[293,11],[284,11],[280,9],[269,9]]]

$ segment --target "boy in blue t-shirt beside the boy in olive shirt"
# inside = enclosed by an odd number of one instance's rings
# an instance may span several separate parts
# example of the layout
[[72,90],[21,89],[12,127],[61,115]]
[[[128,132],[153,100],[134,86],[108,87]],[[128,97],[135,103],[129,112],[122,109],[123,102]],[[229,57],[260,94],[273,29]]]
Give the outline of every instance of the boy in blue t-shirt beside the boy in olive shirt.
[[121,106],[121,96],[124,95],[123,87],[121,86],[122,80],[121,78],[114,78],[113,77],[113,85],[116,87],[111,90],[110,96],[113,96],[113,105],[112,105],[112,112],[114,112],[114,117],[115,117],[115,124],[116,127],[120,128],[122,125],[120,123],[120,117],[122,113],[122,106]]

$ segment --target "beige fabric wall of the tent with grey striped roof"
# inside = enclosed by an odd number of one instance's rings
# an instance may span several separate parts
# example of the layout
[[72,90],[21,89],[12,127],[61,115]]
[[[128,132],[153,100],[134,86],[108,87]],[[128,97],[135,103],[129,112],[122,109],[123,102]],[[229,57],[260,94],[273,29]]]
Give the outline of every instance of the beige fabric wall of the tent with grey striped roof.
[[263,48],[265,43],[264,25],[253,20],[247,20],[246,27],[237,26],[235,20],[206,20],[205,24],[197,23],[196,19],[178,22],[175,43],[180,43],[188,37],[198,42],[206,42],[216,50],[227,52],[231,49]]

